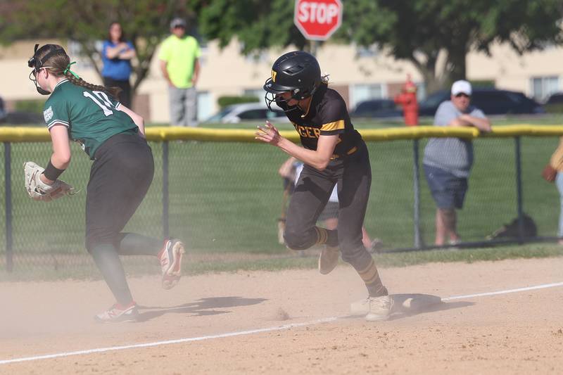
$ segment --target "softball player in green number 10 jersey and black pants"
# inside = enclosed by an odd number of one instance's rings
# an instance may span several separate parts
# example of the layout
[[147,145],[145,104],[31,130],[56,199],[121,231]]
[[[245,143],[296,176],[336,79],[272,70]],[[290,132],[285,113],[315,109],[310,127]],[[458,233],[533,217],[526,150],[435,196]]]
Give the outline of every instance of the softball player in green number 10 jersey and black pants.
[[163,288],[177,284],[184,244],[163,242],[122,229],[143,200],[154,174],[143,117],[115,101],[115,88],[89,84],[70,70],[65,50],[45,44],[28,61],[39,94],[50,95],[44,120],[53,154],[40,176],[52,184],[70,164],[69,141],[77,141],[93,163],[86,197],[86,248],[117,301],[97,314],[99,322],[123,322],[139,316],[119,255],[154,255],[160,260]]

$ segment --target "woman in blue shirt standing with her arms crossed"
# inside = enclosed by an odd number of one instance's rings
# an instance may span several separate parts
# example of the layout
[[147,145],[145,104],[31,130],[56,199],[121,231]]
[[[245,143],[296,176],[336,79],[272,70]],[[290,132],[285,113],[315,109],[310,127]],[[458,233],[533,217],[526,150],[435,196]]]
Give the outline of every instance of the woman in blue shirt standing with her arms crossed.
[[110,24],[108,39],[103,42],[101,59],[103,69],[103,85],[105,87],[119,87],[119,101],[127,108],[131,107],[131,59],[136,56],[134,46],[125,41],[120,23]]

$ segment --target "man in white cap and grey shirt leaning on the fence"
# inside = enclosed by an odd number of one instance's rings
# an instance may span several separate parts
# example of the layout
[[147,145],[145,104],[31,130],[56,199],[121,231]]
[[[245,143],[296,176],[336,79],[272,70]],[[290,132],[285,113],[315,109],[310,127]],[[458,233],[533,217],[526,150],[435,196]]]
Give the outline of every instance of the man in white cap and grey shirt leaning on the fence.
[[[483,111],[470,105],[471,84],[456,81],[452,85],[449,101],[436,110],[434,125],[441,127],[476,127],[481,132],[491,132],[491,122]],[[443,246],[460,241],[456,229],[456,212],[463,207],[467,192],[467,178],[473,165],[472,141],[460,138],[431,138],[424,148],[424,174],[432,198],[436,202],[436,239]]]

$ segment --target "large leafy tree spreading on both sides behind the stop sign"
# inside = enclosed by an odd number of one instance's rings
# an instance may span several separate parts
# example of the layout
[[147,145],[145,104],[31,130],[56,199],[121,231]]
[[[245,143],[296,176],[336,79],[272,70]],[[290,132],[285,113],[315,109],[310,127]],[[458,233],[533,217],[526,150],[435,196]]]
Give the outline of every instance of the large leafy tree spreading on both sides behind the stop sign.
[[[293,25],[293,1],[192,0],[200,30],[226,46],[234,37],[243,53],[307,41]],[[345,0],[334,42],[376,45],[415,65],[427,91],[466,75],[469,51],[489,53],[496,42],[517,53],[563,42],[561,0]],[[445,65],[438,71],[438,56]]]

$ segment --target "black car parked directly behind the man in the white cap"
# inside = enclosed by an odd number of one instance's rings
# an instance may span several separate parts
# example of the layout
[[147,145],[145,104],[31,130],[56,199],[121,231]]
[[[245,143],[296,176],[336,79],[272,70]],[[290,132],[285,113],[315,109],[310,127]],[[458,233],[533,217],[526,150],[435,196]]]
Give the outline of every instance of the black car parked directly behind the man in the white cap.
[[[450,100],[450,91],[436,91],[420,103],[419,115],[434,116],[438,106],[447,100]],[[486,115],[545,113],[538,102],[519,91],[474,89],[471,103]]]

